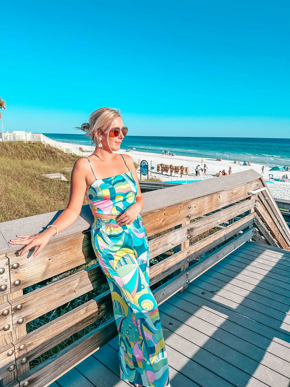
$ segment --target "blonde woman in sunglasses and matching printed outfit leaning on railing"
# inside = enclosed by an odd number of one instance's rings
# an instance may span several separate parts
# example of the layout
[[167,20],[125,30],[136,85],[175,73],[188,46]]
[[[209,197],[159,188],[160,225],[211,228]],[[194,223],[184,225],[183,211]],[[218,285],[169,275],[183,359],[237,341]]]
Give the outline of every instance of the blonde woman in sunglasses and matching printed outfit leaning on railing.
[[128,128],[119,110],[100,108],[80,129],[96,149],[73,166],[67,208],[42,233],[17,235],[22,239],[10,243],[26,245],[20,256],[39,246],[34,253],[38,255],[52,235],[77,219],[87,195],[94,215],[92,245],[113,300],[120,378],[135,386],[169,387],[159,310],[149,287],[148,237],[139,214],[143,197],[132,158],[114,153]]

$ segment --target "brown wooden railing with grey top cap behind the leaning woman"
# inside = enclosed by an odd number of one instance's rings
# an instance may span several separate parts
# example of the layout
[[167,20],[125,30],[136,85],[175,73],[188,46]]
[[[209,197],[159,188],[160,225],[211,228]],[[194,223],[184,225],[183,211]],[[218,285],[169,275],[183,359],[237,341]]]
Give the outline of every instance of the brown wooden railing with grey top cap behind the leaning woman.
[[[253,239],[290,249],[290,230],[282,226],[281,213],[278,207],[273,208],[269,194],[249,194],[263,187],[261,175],[249,170],[143,194],[141,214],[150,239],[150,260],[170,252],[150,267],[150,286],[156,287],[162,280],[162,285],[153,291],[158,304],[183,291],[188,283],[246,241]],[[15,245],[8,244],[20,230],[38,233],[59,213],[0,223],[2,385],[46,387],[118,334],[112,317],[29,369],[30,361],[112,310],[108,290],[26,332],[28,322],[107,283],[99,264],[93,264],[23,293],[28,286],[96,259],[90,236],[93,217],[88,205],[35,258],[33,251],[19,257],[22,248],[16,250]]]

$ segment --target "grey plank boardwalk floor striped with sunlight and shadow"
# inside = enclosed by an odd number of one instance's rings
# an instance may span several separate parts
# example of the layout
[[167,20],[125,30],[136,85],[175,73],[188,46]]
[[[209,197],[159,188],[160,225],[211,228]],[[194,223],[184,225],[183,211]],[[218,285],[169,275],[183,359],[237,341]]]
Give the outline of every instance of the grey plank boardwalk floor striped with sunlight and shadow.
[[[290,382],[290,251],[248,242],[159,305],[172,387]],[[117,337],[51,387],[125,387]]]

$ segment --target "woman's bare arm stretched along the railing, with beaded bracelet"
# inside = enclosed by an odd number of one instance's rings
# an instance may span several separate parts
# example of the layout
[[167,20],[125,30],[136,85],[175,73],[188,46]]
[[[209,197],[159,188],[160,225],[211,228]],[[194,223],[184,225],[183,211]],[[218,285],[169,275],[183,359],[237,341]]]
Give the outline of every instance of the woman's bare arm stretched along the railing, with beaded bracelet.
[[[84,195],[87,189],[85,171],[85,159],[78,159],[72,169],[72,175],[70,180],[70,198],[68,201],[67,208],[64,209],[61,214],[53,222],[58,228],[58,232],[63,231],[70,226],[80,214],[82,204],[84,202]],[[12,239],[9,241],[10,244],[14,245],[26,245],[22,252],[19,254],[21,257],[34,246],[38,246],[38,249],[34,252],[34,257],[41,252],[46,246],[49,239],[56,232],[54,227],[49,227],[43,232],[34,235],[16,235],[22,239]]]

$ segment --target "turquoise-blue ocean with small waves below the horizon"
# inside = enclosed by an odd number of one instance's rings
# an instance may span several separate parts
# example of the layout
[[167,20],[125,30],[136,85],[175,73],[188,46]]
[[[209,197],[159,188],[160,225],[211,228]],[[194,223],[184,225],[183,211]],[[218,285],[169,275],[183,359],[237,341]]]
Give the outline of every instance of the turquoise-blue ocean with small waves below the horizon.
[[[81,134],[44,133],[58,142],[90,145],[90,140]],[[263,139],[247,137],[124,137],[121,149],[136,148],[136,151],[160,154],[162,150],[175,152],[179,156],[194,156],[209,159],[249,161],[266,166],[290,165],[290,139]]]

